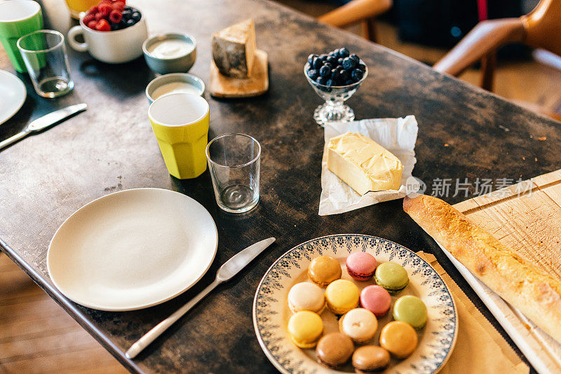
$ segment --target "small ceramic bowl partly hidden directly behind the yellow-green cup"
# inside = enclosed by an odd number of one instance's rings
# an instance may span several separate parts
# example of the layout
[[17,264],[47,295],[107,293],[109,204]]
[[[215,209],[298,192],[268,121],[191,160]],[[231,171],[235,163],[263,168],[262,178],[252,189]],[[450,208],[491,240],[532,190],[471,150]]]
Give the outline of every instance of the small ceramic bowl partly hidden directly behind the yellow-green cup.
[[177,92],[203,96],[205,83],[193,74],[174,73],[158,76],[146,86],[146,97],[149,104],[152,104],[158,97]]

